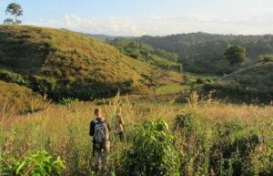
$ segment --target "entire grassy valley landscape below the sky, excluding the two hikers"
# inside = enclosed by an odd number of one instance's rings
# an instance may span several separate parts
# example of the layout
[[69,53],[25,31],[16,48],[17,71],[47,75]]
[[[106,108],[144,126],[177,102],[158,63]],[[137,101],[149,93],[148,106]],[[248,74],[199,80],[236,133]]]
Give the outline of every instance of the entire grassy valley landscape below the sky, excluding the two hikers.
[[[272,36],[99,37],[0,26],[1,176],[273,174]],[[248,62],[225,60],[239,44]],[[97,108],[125,123],[103,173]]]

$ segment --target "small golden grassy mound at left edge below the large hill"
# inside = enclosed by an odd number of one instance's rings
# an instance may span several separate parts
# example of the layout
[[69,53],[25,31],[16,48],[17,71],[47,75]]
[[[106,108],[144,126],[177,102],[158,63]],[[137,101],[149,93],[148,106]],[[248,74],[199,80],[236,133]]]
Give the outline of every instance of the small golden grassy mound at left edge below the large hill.
[[5,107],[9,113],[25,113],[44,107],[42,96],[30,88],[4,81],[0,81],[0,99],[0,109]]

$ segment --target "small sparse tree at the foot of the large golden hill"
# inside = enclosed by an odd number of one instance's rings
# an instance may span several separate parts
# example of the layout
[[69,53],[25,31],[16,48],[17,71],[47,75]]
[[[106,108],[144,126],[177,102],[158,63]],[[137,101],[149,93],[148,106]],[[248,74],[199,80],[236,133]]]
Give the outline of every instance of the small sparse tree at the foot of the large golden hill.
[[142,74],[142,83],[154,91],[156,95],[157,88],[162,85],[162,79],[168,76],[166,71],[154,69],[149,74]]

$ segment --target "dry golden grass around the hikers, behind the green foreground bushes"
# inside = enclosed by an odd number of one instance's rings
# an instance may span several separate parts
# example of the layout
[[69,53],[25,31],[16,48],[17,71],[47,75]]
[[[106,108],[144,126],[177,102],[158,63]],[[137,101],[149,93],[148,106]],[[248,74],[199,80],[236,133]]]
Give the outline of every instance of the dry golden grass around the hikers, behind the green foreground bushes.
[[[2,121],[0,139],[5,148],[22,151],[32,146],[49,150],[66,160],[67,175],[88,175],[92,169],[92,142],[88,136],[89,122],[94,119],[94,109],[103,109],[104,116],[111,122],[116,109],[121,107],[126,123],[126,138],[130,139],[137,126],[146,119],[166,119],[170,128],[174,128],[177,114],[197,113],[201,126],[216,127],[227,122],[243,123],[246,128],[263,131],[266,138],[273,130],[273,107],[225,104],[219,102],[197,101],[194,93],[187,104],[155,103],[147,101],[132,102],[130,98],[79,102],[71,107],[52,104],[47,109],[25,116],[15,116],[12,120]],[[97,105],[100,104],[100,105]],[[11,124],[12,121],[12,124]],[[272,129],[272,130],[271,130]],[[213,130],[212,130],[213,132]],[[217,133],[217,131],[215,131]],[[112,138],[110,165],[116,167],[116,160],[131,143],[116,142]],[[1,142],[0,142],[1,143]]]

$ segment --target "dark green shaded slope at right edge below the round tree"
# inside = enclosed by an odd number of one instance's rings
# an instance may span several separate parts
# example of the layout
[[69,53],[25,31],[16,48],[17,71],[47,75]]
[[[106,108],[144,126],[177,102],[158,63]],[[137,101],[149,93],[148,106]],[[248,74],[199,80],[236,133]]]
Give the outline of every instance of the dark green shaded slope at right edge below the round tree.
[[220,79],[217,83],[206,85],[207,89],[217,89],[224,96],[248,103],[273,100],[273,63],[257,63],[238,70],[233,75]]

